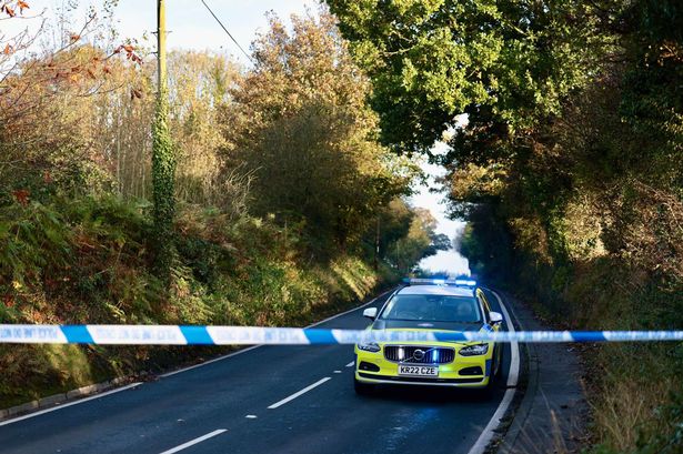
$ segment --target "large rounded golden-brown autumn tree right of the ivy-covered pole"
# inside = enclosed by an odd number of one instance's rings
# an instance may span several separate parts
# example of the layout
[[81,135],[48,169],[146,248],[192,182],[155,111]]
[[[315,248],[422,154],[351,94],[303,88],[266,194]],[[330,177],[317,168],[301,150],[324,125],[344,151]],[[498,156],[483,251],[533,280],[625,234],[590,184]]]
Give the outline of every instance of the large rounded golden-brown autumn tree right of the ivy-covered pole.
[[252,212],[303,225],[324,256],[354,244],[374,212],[408,191],[414,168],[380,147],[369,81],[334,19],[270,17],[254,69],[231,90],[222,123],[227,169],[254,175]]

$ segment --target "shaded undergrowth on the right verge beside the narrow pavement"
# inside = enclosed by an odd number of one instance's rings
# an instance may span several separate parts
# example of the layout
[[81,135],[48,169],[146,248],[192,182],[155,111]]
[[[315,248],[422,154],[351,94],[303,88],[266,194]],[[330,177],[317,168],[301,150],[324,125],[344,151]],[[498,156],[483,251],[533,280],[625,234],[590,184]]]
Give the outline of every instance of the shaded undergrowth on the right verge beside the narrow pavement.
[[[488,221],[489,226],[496,225],[494,218]],[[489,254],[491,249],[482,241],[491,243],[492,238],[496,255],[490,262],[482,260],[479,271],[531,303],[555,329],[680,330],[683,325],[683,282],[673,276],[615,255],[548,261],[549,256],[520,246],[520,238],[500,224],[469,229],[462,249]],[[533,244],[539,251],[544,241]],[[682,343],[590,344],[579,351],[592,416],[593,446],[586,452],[682,452]]]

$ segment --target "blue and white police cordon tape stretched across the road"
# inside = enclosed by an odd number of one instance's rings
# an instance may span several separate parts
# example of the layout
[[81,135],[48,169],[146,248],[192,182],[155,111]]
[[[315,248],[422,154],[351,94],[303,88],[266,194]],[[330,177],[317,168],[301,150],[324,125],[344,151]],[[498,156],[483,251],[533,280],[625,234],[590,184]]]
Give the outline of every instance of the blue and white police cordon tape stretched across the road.
[[683,331],[369,331],[261,326],[0,324],[0,343],[98,345],[330,345],[366,342],[683,341]]

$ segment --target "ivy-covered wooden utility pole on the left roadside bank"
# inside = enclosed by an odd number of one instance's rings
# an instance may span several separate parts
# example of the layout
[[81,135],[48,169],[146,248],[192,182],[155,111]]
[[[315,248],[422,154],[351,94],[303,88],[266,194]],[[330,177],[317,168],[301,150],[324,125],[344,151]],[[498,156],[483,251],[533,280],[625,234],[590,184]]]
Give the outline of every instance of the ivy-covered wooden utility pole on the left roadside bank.
[[165,62],[165,4],[157,2],[157,110],[152,123],[152,184],[155,233],[155,269],[168,282],[173,258],[173,218],[175,214],[175,157],[169,131],[169,101]]

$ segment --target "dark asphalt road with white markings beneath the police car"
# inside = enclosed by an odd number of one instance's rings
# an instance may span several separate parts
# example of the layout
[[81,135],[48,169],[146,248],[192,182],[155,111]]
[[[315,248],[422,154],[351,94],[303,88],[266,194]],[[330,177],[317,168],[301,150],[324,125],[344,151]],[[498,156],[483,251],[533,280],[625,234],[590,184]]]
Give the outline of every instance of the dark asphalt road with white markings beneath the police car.
[[[381,306],[386,296],[364,307]],[[500,311],[496,297],[489,296]],[[363,329],[369,321],[361,313],[358,309],[317,327]],[[505,345],[502,384],[510,349]],[[0,423],[0,452],[469,453],[500,416],[499,411],[490,424],[504,386],[489,395],[411,386],[356,396],[352,363],[349,345],[258,346]]]

